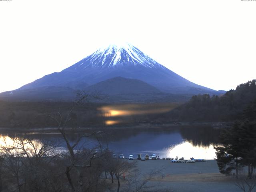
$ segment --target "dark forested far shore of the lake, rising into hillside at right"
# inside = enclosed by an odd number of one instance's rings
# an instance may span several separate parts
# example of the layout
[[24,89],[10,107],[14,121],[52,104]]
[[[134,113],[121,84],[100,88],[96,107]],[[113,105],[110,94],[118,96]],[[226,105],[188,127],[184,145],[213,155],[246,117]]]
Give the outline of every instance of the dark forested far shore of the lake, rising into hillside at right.
[[[74,105],[73,102],[4,102],[0,101],[0,128],[49,128],[56,123],[48,118],[48,114],[62,113],[64,116]],[[117,106],[120,105],[118,108]],[[235,121],[246,117],[254,117],[256,108],[256,80],[237,86],[222,96],[209,94],[192,96],[190,101],[179,105],[171,104],[130,104],[132,112],[127,112],[125,105],[106,105],[99,103],[82,103],[71,115],[70,127],[104,126],[106,120],[116,120],[119,125],[138,123],[169,122],[220,122]],[[111,110],[126,111],[126,116],[105,117],[103,106]],[[178,106],[175,109],[174,106]],[[134,112],[135,109],[142,112]],[[149,108],[150,112],[148,112]],[[246,110],[245,110],[246,109]],[[170,111],[171,110],[171,111]],[[162,111],[162,112],[159,112]],[[166,112],[168,111],[168,112]]]

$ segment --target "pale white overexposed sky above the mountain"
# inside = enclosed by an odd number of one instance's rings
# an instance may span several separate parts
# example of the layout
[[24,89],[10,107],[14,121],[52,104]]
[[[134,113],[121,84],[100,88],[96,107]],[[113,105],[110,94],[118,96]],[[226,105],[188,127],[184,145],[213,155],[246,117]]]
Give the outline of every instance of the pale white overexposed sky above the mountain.
[[256,78],[256,1],[2,0],[0,92],[128,42],[215,90]]

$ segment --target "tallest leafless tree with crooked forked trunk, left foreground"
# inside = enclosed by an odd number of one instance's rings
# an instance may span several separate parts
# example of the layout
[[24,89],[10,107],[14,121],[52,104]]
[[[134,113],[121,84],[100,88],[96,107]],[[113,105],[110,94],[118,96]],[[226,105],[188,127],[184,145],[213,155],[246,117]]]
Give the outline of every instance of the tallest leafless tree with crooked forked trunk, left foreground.
[[[58,112],[55,115],[48,114],[48,117],[50,117],[57,123],[58,131],[62,134],[62,137],[68,149],[70,163],[67,164],[65,173],[73,192],[81,192],[82,189],[85,188],[86,182],[84,182],[84,168],[92,167],[92,160],[96,159],[96,154],[98,153],[92,151],[88,153],[88,151],[83,149],[83,145],[80,144],[80,142],[85,137],[97,137],[98,135],[102,134],[102,132],[95,131],[91,134],[82,134],[76,139],[74,144],[71,144],[66,133],[66,125],[71,120],[71,114],[74,111],[74,109],[82,102],[89,101],[92,98],[98,99],[99,97],[80,91],[78,92],[78,100],[74,102],[74,105],[65,117],[60,112]],[[87,152],[86,156],[84,155],[84,151]]]

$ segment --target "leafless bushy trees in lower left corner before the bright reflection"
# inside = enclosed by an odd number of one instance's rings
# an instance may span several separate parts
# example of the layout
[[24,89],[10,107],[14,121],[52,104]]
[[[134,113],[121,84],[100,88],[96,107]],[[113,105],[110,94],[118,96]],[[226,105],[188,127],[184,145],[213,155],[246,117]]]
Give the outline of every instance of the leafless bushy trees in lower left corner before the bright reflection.
[[30,138],[13,138],[9,143],[5,141],[1,152],[5,157],[5,180],[10,191],[60,191],[58,189],[65,180],[58,175],[61,169],[51,162],[53,157],[50,155],[54,153],[52,144]]

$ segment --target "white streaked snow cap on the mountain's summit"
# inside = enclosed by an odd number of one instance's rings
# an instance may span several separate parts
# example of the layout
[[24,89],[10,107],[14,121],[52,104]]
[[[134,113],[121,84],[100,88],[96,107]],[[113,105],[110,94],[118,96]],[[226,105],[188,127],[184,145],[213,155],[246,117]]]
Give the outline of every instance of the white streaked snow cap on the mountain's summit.
[[129,65],[156,68],[162,66],[131,44],[111,44],[100,48],[79,63],[81,68],[89,66],[111,68]]

